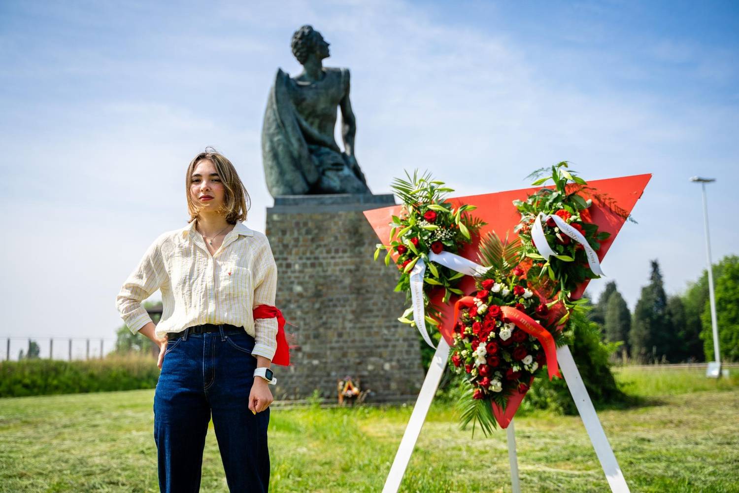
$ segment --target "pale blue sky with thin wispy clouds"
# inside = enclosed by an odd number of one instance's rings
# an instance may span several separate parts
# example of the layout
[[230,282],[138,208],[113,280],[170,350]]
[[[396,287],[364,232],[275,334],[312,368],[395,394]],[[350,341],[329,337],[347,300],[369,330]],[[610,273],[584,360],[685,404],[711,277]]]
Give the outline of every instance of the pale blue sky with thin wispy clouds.
[[277,67],[299,72],[302,24],[331,43],[327,66],[351,70],[372,191],[403,168],[460,195],[523,188],[559,160],[586,179],[650,172],[603,268],[630,307],[649,259],[678,293],[705,266],[692,175],[718,179],[714,259],[739,254],[738,5],[3,1],[1,293],[15,309],[0,336],[112,337],[121,283],[185,225],[183,173],[205,146],[234,161],[264,231],[262,115]]

